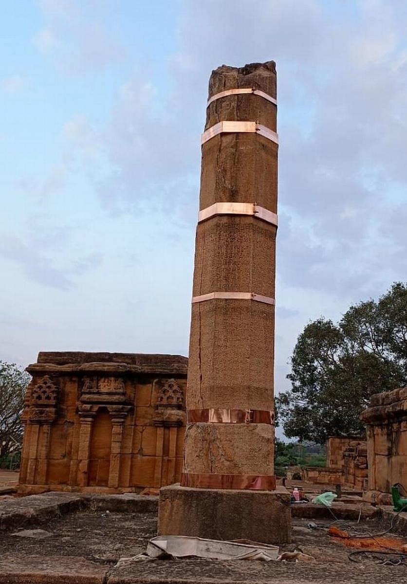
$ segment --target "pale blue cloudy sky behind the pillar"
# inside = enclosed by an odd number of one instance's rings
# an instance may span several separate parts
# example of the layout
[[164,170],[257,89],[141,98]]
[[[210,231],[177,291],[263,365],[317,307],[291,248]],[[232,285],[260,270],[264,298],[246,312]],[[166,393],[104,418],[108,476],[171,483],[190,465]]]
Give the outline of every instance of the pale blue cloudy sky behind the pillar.
[[0,360],[187,355],[221,64],[277,64],[276,392],[307,322],[406,280],[405,0],[0,4]]

